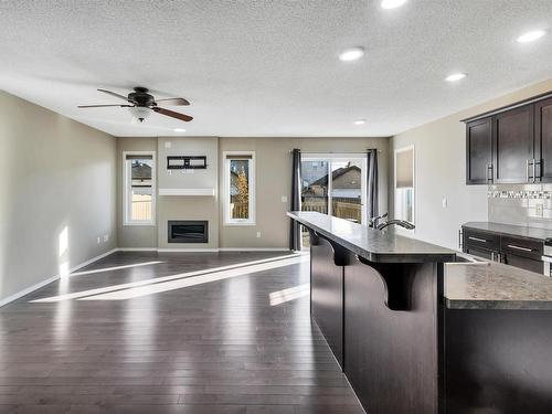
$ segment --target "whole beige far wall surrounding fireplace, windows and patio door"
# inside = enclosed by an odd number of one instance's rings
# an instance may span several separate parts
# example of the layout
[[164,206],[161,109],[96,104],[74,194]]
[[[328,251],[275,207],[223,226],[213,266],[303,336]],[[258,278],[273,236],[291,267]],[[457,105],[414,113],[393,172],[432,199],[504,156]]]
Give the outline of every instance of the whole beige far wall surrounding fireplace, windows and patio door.
[[[289,220],[286,212],[289,201],[283,203],[282,195],[289,200],[291,192],[291,155],[294,148],[304,152],[361,152],[368,148],[380,149],[380,209],[388,209],[388,171],[389,139],[388,138],[117,138],[117,216],[121,217],[121,159],[123,151],[157,150],[158,151],[158,184],[162,181],[164,169],[164,142],[171,146],[183,146],[192,152],[198,152],[198,145],[205,140],[205,151],[217,142],[219,183],[217,197],[158,197],[156,226],[124,226],[119,224],[119,247],[130,248],[287,248],[289,245]],[[172,148],[172,147],[171,147]],[[176,149],[174,149],[176,150]],[[256,224],[254,226],[224,225],[223,189],[223,152],[255,151],[256,167]],[[182,152],[182,151],[180,151]],[[172,152],[171,152],[172,153]],[[174,152],[176,153],[176,152]],[[199,152],[198,152],[199,153]],[[209,157],[208,163],[210,163]],[[176,176],[178,173],[173,173]],[[201,173],[200,173],[201,174]],[[167,180],[172,187],[209,187],[201,176],[189,174],[187,179],[198,177],[199,183],[182,184],[176,181],[178,177]],[[197,184],[197,185],[195,185]],[[163,184],[164,185],[164,184]],[[168,244],[166,223],[169,219],[210,220],[209,244],[193,246],[191,244]],[[257,237],[261,232],[261,237]]]

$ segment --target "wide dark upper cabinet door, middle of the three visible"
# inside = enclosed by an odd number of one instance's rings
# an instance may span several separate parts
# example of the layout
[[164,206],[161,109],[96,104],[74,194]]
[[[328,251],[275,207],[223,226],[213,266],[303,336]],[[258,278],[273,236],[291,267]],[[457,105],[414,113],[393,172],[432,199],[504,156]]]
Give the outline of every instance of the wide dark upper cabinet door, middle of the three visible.
[[534,182],[533,106],[522,106],[492,117],[493,182]]

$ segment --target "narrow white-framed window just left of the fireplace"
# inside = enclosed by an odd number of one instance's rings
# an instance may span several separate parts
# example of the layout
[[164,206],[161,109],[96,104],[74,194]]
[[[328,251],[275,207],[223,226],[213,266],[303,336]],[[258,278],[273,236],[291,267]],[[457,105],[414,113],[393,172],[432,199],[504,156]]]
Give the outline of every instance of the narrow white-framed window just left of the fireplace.
[[125,225],[156,224],[155,152],[124,152],[123,163]]

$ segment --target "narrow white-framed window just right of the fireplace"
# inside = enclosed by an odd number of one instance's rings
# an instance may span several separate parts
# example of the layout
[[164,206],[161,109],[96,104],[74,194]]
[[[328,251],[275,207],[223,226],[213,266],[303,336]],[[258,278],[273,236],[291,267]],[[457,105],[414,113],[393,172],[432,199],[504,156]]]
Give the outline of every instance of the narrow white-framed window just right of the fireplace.
[[224,152],[224,223],[255,224],[255,152]]

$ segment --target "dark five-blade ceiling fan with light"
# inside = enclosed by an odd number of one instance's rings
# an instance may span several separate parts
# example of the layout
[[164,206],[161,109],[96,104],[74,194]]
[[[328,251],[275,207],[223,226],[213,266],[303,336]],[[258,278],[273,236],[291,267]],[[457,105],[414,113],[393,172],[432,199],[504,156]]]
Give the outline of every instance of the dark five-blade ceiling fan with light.
[[106,89],[98,89],[99,92],[103,92],[104,94],[108,94],[115,97],[118,97],[119,99],[126,100],[127,104],[121,104],[121,105],[79,105],[78,108],[105,108],[109,106],[118,106],[121,108],[128,108],[130,110],[130,114],[135,118],[137,118],[140,123],[144,123],[144,120],[151,114],[151,112],[170,116],[172,118],[177,118],[180,120],[183,120],[185,123],[189,123],[193,118],[189,115],[185,114],[180,114],[176,113],[174,110],[170,109],[164,109],[158,106],[158,103],[161,105],[170,105],[170,106],[188,106],[190,103],[185,100],[184,98],[163,98],[163,99],[156,99],[153,95],[149,94],[148,88],[137,86],[134,88],[134,92],[129,93],[128,96],[123,96],[119,95],[115,92],[112,91],[106,91]]

